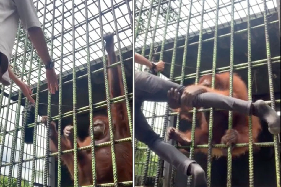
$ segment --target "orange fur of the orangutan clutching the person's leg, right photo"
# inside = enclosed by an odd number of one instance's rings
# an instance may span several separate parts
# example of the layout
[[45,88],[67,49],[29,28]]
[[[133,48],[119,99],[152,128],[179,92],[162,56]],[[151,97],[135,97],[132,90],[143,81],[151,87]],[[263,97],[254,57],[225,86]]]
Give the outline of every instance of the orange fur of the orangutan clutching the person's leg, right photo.
[[[215,75],[215,89],[211,89],[212,76],[206,75],[202,76],[199,80],[198,85],[191,86],[202,86],[207,92],[214,92],[218,94],[223,94],[229,96],[229,72],[220,73]],[[189,89],[189,86],[186,87]],[[233,75],[233,97],[248,100],[248,91],[246,84],[237,75]],[[181,108],[178,111],[181,112],[181,118],[188,121],[192,120],[192,113],[186,113],[186,111],[191,110],[191,108]],[[207,144],[209,135],[209,123],[206,120],[204,113],[197,113],[197,120],[200,124],[199,128],[195,129],[195,145]],[[209,114],[207,114],[209,115]],[[228,111],[214,111],[214,121],[213,121],[213,140],[212,144],[220,144],[222,137],[225,135],[228,129]],[[249,117],[243,114],[238,114],[233,112],[233,129],[238,132],[238,139],[236,143],[248,143],[249,142],[249,128],[248,128]],[[257,137],[261,131],[261,124],[257,117],[252,116],[252,132],[253,132],[253,142],[257,142]],[[186,139],[191,140],[191,130],[186,132],[179,132]],[[206,148],[196,149],[197,152],[203,152],[207,154]],[[233,157],[244,154],[248,151],[248,147],[234,147],[232,150]],[[212,156],[220,157],[225,155],[223,149],[212,148]]]

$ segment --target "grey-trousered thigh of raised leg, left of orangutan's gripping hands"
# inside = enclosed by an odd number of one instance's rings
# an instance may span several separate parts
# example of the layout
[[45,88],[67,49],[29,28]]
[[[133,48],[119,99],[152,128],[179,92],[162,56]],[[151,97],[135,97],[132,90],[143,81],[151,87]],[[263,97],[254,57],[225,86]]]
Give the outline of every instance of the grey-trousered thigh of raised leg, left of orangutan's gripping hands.
[[182,93],[185,87],[150,73],[135,72],[135,97],[141,101],[167,102],[171,88]]

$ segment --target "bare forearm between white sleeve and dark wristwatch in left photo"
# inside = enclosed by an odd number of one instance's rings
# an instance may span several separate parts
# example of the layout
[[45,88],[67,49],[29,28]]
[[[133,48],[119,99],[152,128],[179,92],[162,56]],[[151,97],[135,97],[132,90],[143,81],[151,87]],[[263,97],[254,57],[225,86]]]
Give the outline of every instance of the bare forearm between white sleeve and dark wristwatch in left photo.
[[31,27],[28,29],[28,34],[38,55],[46,65],[51,60],[51,57],[49,55],[48,47],[42,29],[40,27]]

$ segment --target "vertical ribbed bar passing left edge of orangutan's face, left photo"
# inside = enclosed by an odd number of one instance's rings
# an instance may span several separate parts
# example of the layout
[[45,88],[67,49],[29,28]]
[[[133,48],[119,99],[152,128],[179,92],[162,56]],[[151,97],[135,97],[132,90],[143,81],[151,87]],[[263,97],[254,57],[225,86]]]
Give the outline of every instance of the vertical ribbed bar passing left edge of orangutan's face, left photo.
[[93,98],[92,98],[92,82],[91,82],[91,65],[90,65],[90,47],[89,47],[89,18],[88,18],[88,3],[85,0],[85,17],[86,17],[86,45],[87,45],[87,74],[88,74],[88,95],[89,95],[89,116],[90,116],[90,136],[91,136],[91,151],[92,151],[92,180],[93,186],[97,185],[96,179],[96,160],[95,160],[95,137],[93,123]]

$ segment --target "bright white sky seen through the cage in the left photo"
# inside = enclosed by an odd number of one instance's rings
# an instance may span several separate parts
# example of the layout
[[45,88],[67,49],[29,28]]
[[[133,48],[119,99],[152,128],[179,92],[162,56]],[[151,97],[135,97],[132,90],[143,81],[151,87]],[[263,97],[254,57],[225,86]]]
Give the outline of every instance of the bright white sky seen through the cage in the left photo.
[[[61,28],[62,28],[62,1],[63,0],[56,0],[56,9],[55,9],[55,22],[54,22],[54,37],[53,40],[53,59],[56,61],[55,68],[56,73],[59,74],[59,67],[60,67],[60,57],[61,57]],[[71,0],[64,0],[64,40],[63,40],[63,72],[68,71],[72,73],[72,1]],[[43,24],[43,14],[44,14],[44,0],[38,1],[38,10],[37,13],[41,24]],[[51,38],[52,32],[52,18],[53,18],[53,1],[47,0],[47,7],[46,7],[46,20],[45,20],[45,32],[47,33],[48,37]],[[75,65],[76,67],[80,65],[87,66],[87,49],[86,47],[86,19],[85,19],[85,4],[83,3],[84,0],[75,0],[75,8],[74,8],[74,26],[75,26]],[[111,8],[111,3],[108,0],[101,0],[101,11],[104,13],[102,15],[102,23],[103,23],[103,33],[106,32],[115,32],[115,26],[113,22],[113,14],[112,11],[108,12],[107,9]],[[37,1],[34,1],[36,6]],[[94,0],[88,0],[88,18],[90,22],[89,26],[89,43],[90,43],[90,61],[102,58],[102,50],[101,50],[101,40],[100,40],[100,23],[98,17],[98,3]],[[123,0],[113,0],[113,4],[115,7],[115,14],[117,19],[117,27],[120,37],[120,44],[121,48],[124,47],[131,47],[132,45],[132,30],[128,15],[128,10],[125,1]],[[121,6],[120,6],[121,5]],[[130,8],[132,10],[132,1],[129,1]],[[116,6],[120,6],[116,8]],[[125,16],[123,16],[125,15]],[[97,19],[94,19],[97,18]],[[23,39],[24,40],[24,39]],[[117,50],[117,38],[116,35],[114,37],[115,40],[115,50]],[[16,42],[15,42],[16,44]],[[14,46],[13,55],[15,54]],[[50,46],[49,46],[50,49]],[[18,55],[23,55],[23,49],[21,47],[18,48]],[[30,53],[31,54],[31,53]],[[13,58],[12,58],[13,59]],[[11,61],[11,64],[13,62]],[[22,62],[17,62],[22,69]],[[28,71],[30,67],[29,60],[27,61],[25,70]],[[38,82],[38,68],[34,68],[35,64],[33,64],[33,72],[31,73],[31,81],[30,84],[35,84]],[[43,72],[44,69],[42,68]],[[43,73],[40,80],[45,80],[45,74]],[[27,80],[27,77],[24,77],[24,80]],[[6,87],[7,88],[7,87]],[[17,91],[18,87],[14,86],[13,91]],[[9,90],[6,89],[5,91],[7,94]]]

